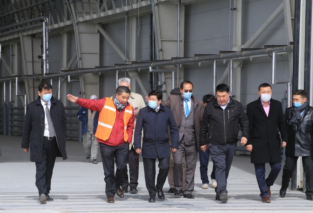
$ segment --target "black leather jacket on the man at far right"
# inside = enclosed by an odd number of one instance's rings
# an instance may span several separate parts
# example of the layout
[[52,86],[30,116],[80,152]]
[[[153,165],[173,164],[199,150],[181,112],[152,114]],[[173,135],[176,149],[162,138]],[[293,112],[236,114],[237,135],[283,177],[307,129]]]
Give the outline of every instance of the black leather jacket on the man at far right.
[[305,108],[298,125],[289,124],[294,114],[293,107],[286,109],[285,120],[288,130],[288,143],[285,155],[312,156],[313,108],[309,105]]

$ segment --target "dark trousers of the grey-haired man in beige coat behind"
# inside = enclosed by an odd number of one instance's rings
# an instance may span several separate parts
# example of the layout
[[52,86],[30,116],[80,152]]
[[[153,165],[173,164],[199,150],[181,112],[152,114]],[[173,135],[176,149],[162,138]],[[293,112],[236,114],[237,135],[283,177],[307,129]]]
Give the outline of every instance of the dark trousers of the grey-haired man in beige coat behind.
[[129,155],[128,155],[128,166],[129,166],[129,179],[130,181],[128,182],[128,174],[127,174],[127,167],[126,167],[126,172],[123,176],[123,181],[121,187],[132,187],[135,186],[137,188],[138,186],[138,174],[139,174],[139,157],[134,150],[134,147],[131,146],[131,150],[129,150]]

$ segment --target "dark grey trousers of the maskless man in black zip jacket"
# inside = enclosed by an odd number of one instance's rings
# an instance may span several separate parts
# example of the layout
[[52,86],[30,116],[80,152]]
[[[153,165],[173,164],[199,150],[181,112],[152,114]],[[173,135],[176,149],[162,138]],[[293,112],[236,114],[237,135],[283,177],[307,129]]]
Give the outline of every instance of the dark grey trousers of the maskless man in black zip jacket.
[[215,192],[217,195],[222,193],[228,193],[227,188],[227,178],[230,170],[230,166],[233,162],[233,156],[235,155],[235,147],[237,143],[214,145],[209,144],[209,149],[211,152],[211,158],[215,165],[215,178],[217,182],[217,187]]

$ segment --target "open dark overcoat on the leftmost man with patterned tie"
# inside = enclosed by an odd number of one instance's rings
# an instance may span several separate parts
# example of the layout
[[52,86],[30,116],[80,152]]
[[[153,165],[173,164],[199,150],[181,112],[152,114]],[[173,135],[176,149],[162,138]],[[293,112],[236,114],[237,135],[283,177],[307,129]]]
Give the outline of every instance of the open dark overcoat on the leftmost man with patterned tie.
[[[51,98],[50,117],[53,123],[59,150],[57,157],[67,159],[65,151],[66,142],[66,115],[62,101]],[[41,162],[44,141],[44,107],[41,104],[40,96],[38,99],[27,105],[22,148],[30,148],[30,161]]]

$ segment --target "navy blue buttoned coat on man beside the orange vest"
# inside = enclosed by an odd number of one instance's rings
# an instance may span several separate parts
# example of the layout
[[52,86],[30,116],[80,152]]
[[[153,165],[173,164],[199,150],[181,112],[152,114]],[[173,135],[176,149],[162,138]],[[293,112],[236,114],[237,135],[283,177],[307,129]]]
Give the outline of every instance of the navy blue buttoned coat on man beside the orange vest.
[[172,137],[172,148],[179,148],[179,131],[172,110],[160,105],[156,113],[146,106],[139,110],[135,136],[135,150],[141,148],[141,130],[143,128],[142,157],[167,158],[170,157],[170,143],[167,135],[169,127]]

